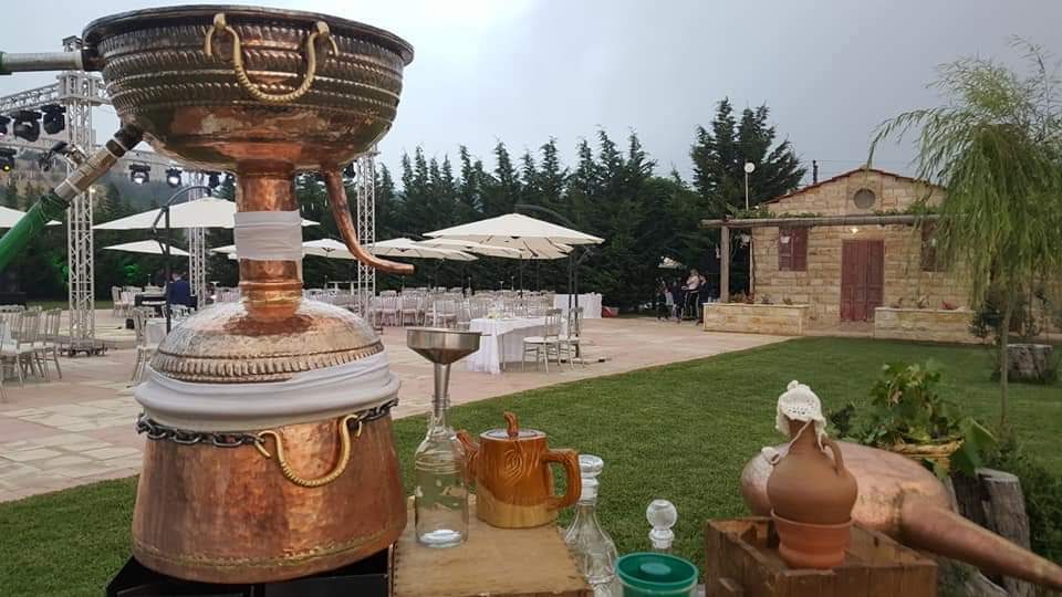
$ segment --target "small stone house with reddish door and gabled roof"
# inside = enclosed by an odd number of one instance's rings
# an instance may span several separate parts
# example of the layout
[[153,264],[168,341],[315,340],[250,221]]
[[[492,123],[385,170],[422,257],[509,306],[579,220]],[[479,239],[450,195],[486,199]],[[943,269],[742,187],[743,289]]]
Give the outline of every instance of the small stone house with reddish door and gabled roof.
[[[945,189],[906,176],[857,168],[764,203],[774,217],[904,213]],[[753,228],[754,294],[809,305],[808,323],[833,327],[873,321],[878,306],[965,306],[969,287],[937,263],[931,223]]]

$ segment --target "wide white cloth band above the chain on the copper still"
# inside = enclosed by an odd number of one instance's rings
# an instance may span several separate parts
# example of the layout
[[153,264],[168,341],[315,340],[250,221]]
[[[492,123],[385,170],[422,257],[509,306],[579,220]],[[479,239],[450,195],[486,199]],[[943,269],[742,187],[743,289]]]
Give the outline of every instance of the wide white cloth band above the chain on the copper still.
[[136,400],[152,419],[192,431],[250,431],[317,421],[386,402],[398,394],[386,350],[296,374],[285,381],[194,384],[147,368]]

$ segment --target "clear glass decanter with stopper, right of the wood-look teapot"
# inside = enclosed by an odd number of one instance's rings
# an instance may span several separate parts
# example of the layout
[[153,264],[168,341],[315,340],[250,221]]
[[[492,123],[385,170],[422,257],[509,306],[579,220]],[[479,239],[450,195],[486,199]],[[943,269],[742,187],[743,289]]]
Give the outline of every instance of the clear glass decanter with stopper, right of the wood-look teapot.
[[579,572],[594,589],[594,597],[618,597],[616,582],[616,544],[597,522],[597,475],[604,468],[601,458],[580,454],[582,493],[575,505],[575,520],[564,532]]

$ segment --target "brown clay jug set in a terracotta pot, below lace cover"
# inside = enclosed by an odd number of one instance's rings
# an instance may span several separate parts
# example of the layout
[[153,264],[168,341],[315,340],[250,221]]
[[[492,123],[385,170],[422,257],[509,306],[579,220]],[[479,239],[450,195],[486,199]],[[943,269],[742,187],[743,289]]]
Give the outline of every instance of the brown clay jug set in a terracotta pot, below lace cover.
[[[833,568],[844,562],[852,507],[858,494],[844,468],[841,449],[823,438],[819,447],[813,421],[789,421],[792,443],[767,480],[779,554],[792,567]],[[829,449],[833,458],[826,454]]]

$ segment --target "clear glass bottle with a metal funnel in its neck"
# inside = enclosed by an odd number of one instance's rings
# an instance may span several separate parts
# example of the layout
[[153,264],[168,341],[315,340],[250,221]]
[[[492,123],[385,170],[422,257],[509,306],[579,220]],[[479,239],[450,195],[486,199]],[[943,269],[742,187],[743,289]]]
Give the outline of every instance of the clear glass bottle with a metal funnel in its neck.
[[479,349],[478,332],[409,328],[406,344],[435,364],[431,416],[413,459],[416,536],[427,547],[454,547],[468,537],[465,449],[447,421],[450,364]]

